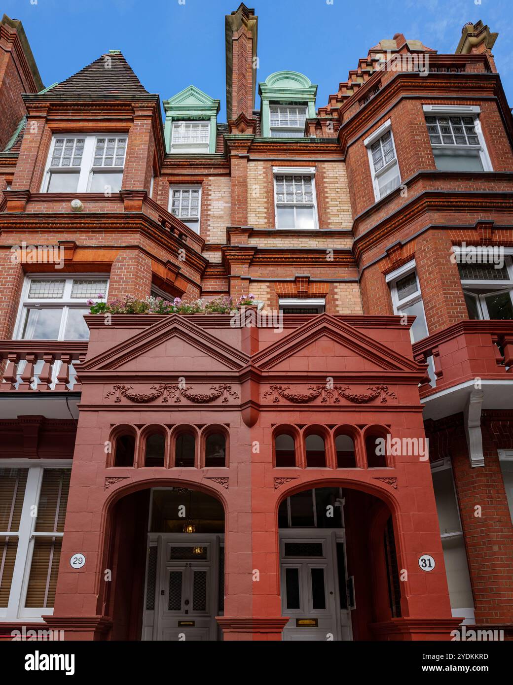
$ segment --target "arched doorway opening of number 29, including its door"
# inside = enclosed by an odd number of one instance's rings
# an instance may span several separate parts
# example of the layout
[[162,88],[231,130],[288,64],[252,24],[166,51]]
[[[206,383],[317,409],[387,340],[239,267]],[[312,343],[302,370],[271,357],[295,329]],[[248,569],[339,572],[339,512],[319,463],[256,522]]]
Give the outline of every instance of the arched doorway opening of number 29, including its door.
[[221,501],[190,488],[141,490],[116,503],[112,525],[112,639],[222,639]]

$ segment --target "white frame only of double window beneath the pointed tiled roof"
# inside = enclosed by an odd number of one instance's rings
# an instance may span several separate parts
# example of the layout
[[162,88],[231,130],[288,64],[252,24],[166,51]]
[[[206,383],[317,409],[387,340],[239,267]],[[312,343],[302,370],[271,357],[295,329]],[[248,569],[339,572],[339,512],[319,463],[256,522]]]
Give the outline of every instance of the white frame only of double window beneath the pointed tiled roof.
[[[82,160],[80,166],[51,166],[51,158],[53,157],[53,149],[56,145],[57,138],[84,138],[84,152],[82,153]],[[123,166],[93,166],[95,158],[96,140],[97,138],[126,138],[125,158],[123,159]],[[91,183],[93,182],[94,173],[121,173],[123,174],[126,164],[126,150],[128,148],[128,133],[97,133],[97,134],[53,134],[51,145],[48,153],[47,163],[45,166],[45,173],[43,175],[43,182],[41,184],[40,192],[70,192],[70,191],[53,191],[48,190],[50,178],[52,173],[76,173],[80,172],[78,177],[77,190],[71,191],[75,194],[82,192],[91,192]],[[121,179],[121,183],[123,179]],[[95,191],[97,192],[97,191]],[[117,192],[117,191],[114,191]]]

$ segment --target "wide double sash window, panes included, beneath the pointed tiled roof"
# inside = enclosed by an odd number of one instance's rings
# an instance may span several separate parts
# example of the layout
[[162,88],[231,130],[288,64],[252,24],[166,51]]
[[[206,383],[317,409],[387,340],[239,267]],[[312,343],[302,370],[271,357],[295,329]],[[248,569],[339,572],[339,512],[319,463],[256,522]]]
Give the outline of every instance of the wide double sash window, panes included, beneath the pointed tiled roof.
[[121,190],[128,136],[53,136],[41,192]]

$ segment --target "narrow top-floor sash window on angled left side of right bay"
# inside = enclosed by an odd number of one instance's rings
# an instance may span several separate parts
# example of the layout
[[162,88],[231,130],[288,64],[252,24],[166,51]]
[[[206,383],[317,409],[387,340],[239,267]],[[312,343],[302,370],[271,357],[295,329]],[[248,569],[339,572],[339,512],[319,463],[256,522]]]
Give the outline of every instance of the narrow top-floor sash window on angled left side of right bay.
[[401,185],[390,119],[370,134],[363,145],[367,148],[374,197],[378,201]]

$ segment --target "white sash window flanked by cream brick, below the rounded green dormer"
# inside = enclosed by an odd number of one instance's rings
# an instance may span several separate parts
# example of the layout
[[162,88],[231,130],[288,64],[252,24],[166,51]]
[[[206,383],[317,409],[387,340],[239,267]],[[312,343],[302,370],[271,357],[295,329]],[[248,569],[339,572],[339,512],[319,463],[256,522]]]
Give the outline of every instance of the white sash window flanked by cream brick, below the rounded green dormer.
[[273,173],[276,228],[318,228],[315,169],[274,167]]

